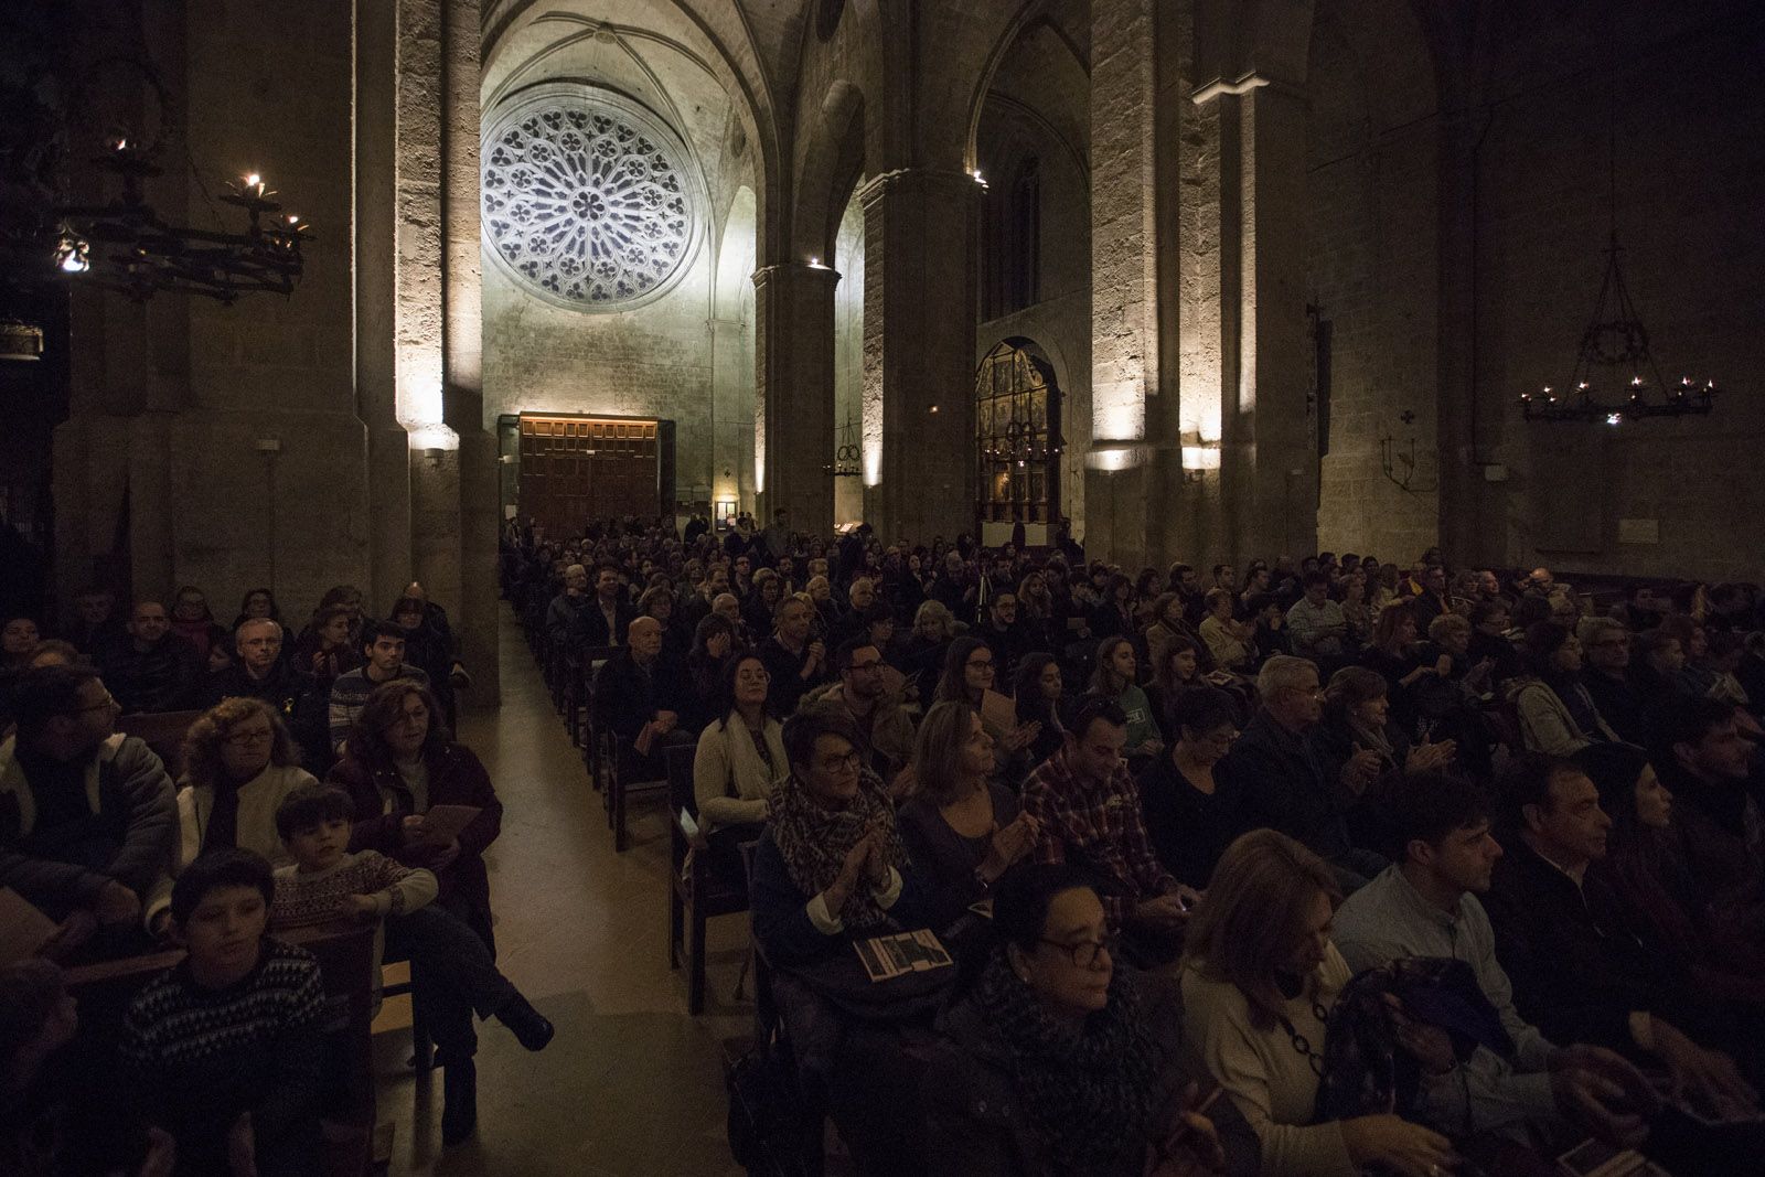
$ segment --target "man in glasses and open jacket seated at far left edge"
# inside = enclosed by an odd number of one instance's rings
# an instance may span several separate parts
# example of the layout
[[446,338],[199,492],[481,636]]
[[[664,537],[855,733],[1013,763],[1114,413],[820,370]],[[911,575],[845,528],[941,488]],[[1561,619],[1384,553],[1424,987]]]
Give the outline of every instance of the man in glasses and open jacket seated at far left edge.
[[18,734],[0,745],[0,886],[67,921],[60,948],[95,921],[97,955],[145,948],[141,898],[176,836],[171,778],[113,734],[116,713],[94,671],[42,667],[19,681]]

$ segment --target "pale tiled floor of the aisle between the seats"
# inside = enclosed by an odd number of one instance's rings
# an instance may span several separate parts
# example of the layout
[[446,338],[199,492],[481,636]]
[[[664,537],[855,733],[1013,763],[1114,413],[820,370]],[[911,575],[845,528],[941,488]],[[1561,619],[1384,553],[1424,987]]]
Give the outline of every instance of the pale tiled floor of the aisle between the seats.
[[478,1027],[478,1135],[441,1151],[441,1076],[404,1069],[409,1036],[374,1039],[379,1119],[395,1124],[392,1173],[508,1177],[724,1177],[718,1043],[745,1034],[734,1004],[747,918],[713,919],[708,1009],[687,1016],[667,967],[667,826],[657,798],[630,812],[632,847],[612,852],[600,794],[551,708],[521,630],[503,607],[503,706],[462,718],[462,739],[503,798],[491,895],[503,972],[558,1025],[542,1053]]

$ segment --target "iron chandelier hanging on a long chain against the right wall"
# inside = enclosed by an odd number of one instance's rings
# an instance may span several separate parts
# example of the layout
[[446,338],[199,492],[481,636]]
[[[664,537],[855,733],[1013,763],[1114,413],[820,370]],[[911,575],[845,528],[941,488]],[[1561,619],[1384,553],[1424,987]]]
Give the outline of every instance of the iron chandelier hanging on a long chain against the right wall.
[[1619,118],[1617,65],[1606,113],[1606,274],[1599,282],[1594,316],[1581,332],[1574,371],[1566,385],[1544,385],[1520,394],[1520,409],[1528,422],[1624,422],[1649,416],[1709,415],[1721,392],[1714,379],[1682,376],[1668,386],[1661,379],[1631,291],[1624,284],[1624,247],[1619,245]]

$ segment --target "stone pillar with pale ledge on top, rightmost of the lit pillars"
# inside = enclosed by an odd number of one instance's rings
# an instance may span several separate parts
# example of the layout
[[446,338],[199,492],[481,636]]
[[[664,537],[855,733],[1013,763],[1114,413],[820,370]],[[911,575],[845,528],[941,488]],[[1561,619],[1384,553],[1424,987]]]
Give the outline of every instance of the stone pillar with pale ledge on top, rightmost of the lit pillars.
[[[1220,471],[1225,549],[1241,566],[1253,556],[1317,547],[1304,305],[1306,109],[1299,90],[1255,74],[1211,83],[1193,97],[1218,106],[1200,125],[1218,127]],[[1202,274],[1186,275],[1184,289],[1204,314],[1184,362],[1205,369],[1213,328],[1204,286],[1213,265],[1191,265]]]

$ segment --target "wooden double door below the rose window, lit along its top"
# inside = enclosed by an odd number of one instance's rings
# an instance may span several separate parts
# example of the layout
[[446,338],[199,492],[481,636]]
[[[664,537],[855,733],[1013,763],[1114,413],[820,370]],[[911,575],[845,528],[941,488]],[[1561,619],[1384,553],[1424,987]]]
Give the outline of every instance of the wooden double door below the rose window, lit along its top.
[[662,506],[662,422],[521,415],[521,514],[547,536],[590,519],[655,517]]

